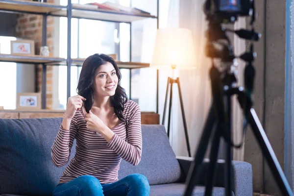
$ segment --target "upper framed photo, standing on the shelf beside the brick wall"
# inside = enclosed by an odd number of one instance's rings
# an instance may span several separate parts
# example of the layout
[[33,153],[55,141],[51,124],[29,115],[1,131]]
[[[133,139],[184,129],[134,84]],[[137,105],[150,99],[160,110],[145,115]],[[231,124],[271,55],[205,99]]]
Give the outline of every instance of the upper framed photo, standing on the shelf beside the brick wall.
[[35,55],[35,42],[33,40],[10,41],[11,54]]

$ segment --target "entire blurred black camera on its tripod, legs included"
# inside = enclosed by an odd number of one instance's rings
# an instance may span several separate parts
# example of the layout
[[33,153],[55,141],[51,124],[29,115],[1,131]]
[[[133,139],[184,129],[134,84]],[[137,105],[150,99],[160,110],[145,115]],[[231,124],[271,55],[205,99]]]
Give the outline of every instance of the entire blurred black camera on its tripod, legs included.
[[[211,196],[215,186],[215,171],[217,170],[217,157],[219,153],[220,140],[224,139],[225,146],[225,196],[231,196],[233,191],[232,183],[232,147],[241,147],[245,137],[245,128],[248,123],[257,139],[261,150],[268,161],[271,172],[283,194],[283,196],[293,196],[291,187],[287,182],[285,174],[274,154],[270,142],[266,136],[257,114],[253,108],[251,95],[253,93],[255,69],[252,64],[256,57],[253,51],[253,42],[258,41],[261,34],[254,31],[255,22],[254,0],[206,0],[203,5],[203,11],[208,21],[206,31],[207,42],[205,46],[206,56],[212,58],[212,66],[209,71],[212,90],[212,104],[203,126],[202,135],[196,148],[194,161],[191,163],[190,170],[186,179],[186,190],[184,196],[192,196],[194,186],[197,185],[202,162],[208,145],[211,142],[209,155],[209,168],[205,188],[205,196]],[[238,17],[251,16],[251,30],[247,29],[229,29],[222,24],[235,23]],[[240,56],[235,56],[233,47],[226,32],[234,32],[240,38],[250,41],[249,51],[245,51]],[[240,58],[246,62],[244,69],[244,87],[237,86],[237,77],[235,76],[234,60]],[[221,66],[225,69],[219,69],[214,59],[221,60]],[[232,96],[237,95],[238,102],[243,110],[243,139],[236,145],[232,141]]]

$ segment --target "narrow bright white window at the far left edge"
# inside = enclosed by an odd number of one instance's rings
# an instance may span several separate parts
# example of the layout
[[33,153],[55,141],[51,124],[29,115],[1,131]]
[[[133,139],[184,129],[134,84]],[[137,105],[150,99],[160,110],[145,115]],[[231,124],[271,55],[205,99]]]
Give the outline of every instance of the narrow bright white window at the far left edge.
[[[16,38],[0,36],[2,54],[10,54],[12,40]],[[16,63],[0,62],[0,92],[0,106],[4,109],[16,109]]]

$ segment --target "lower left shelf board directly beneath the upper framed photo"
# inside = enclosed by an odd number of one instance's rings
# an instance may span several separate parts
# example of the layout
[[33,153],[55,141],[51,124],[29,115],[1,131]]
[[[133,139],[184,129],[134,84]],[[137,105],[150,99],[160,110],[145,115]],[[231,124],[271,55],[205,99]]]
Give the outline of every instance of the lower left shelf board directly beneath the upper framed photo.
[[24,56],[24,55],[11,55],[11,54],[0,54],[1,62],[12,62],[12,63],[50,63],[50,64],[58,64],[62,61],[65,61],[64,58],[59,57],[45,57],[45,56]]

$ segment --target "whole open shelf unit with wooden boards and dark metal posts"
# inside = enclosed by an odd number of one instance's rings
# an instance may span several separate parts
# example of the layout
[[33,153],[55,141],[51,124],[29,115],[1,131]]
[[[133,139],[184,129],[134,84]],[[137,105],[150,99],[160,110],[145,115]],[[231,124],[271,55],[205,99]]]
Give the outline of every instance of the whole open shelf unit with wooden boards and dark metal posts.
[[[47,0],[44,0],[47,1]],[[157,0],[157,6],[159,6],[159,2]],[[43,19],[46,20],[47,16],[56,16],[56,17],[67,17],[68,27],[71,25],[70,18],[79,18],[79,19],[90,19],[90,20],[101,20],[108,22],[116,22],[116,23],[129,23],[131,29],[131,23],[137,20],[143,19],[156,19],[157,20],[157,28],[158,28],[158,12],[159,9],[157,7],[157,16],[153,16],[145,13],[132,13],[125,11],[112,11],[112,10],[104,10],[99,8],[89,8],[89,6],[83,6],[81,4],[69,4],[67,6],[59,5],[55,3],[48,2],[37,2],[30,0],[0,0],[0,12],[8,12],[8,13],[27,13],[27,14],[41,14],[43,15]],[[42,23],[42,29],[47,29],[47,23]],[[43,45],[47,45],[47,37],[44,36],[46,34],[43,33],[42,42]],[[71,31],[68,32],[68,37],[71,37]],[[69,42],[71,43],[71,42]],[[71,47],[71,44],[68,46]],[[130,45],[130,54],[131,54],[131,45]],[[69,58],[71,54],[68,54]],[[130,56],[131,60],[131,56]],[[41,56],[19,56],[19,55],[10,55],[10,54],[0,54],[0,62],[15,62],[15,63],[29,63],[29,64],[43,64],[43,68],[47,65],[66,65],[66,66],[81,66],[84,59],[72,59],[71,61],[67,61],[67,59],[59,58],[59,57],[41,57]],[[72,62],[72,63],[69,63]],[[147,68],[149,67],[148,63],[137,63],[137,62],[121,62],[116,61],[119,68],[129,69],[138,69],[138,68]],[[67,69],[68,74],[70,74],[71,69]],[[46,69],[42,69],[42,75],[46,76]],[[158,72],[157,72],[158,78]],[[158,82],[158,81],[157,81]],[[71,82],[67,82],[67,97],[70,96],[70,84]],[[45,88],[42,88],[42,108],[46,108],[46,77],[42,77],[42,85]],[[130,88],[131,89],[131,88]],[[158,85],[157,85],[157,98],[158,98]],[[158,103],[158,101],[157,101]],[[156,105],[156,110],[158,112],[158,104]]]

